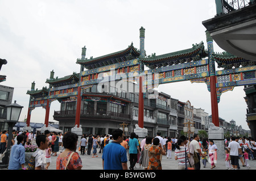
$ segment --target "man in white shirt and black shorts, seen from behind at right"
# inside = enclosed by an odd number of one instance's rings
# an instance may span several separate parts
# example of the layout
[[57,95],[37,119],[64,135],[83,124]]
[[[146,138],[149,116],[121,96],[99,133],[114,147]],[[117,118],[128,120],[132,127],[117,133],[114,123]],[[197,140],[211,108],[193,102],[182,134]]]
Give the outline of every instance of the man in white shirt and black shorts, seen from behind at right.
[[234,170],[237,170],[238,166],[238,155],[239,153],[241,154],[241,146],[236,142],[236,138],[233,136],[231,138],[231,142],[229,143],[228,149],[229,149],[229,154],[230,154],[230,159],[231,159],[231,165]]

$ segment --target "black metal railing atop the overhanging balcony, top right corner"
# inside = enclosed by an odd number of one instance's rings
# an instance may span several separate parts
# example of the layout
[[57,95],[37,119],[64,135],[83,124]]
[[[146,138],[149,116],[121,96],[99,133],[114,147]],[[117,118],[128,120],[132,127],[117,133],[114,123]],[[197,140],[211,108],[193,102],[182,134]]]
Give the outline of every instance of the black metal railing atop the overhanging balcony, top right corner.
[[255,3],[255,0],[215,0],[217,14],[226,14],[230,11],[242,9]]

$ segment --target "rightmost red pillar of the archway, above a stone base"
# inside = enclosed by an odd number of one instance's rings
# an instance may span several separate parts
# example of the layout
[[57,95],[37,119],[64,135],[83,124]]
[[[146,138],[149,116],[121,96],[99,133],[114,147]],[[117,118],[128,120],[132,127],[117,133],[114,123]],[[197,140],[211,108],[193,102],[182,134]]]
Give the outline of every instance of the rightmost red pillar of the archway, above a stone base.
[[217,91],[216,91],[216,76],[210,76],[210,103],[212,106],[212,123],[219,127],[218,121],[218,102],[217,102]]

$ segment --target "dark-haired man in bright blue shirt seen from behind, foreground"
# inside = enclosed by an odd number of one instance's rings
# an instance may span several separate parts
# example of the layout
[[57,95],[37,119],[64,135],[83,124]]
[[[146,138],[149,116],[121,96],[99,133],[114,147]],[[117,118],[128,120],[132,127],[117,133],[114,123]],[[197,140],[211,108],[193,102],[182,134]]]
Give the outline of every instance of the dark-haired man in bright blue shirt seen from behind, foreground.
[[116,129],[113,134],[113,141],[104,147],[102,154],[102,166],[104,170],[127,170],[126,149],[121,145],[123,131]]

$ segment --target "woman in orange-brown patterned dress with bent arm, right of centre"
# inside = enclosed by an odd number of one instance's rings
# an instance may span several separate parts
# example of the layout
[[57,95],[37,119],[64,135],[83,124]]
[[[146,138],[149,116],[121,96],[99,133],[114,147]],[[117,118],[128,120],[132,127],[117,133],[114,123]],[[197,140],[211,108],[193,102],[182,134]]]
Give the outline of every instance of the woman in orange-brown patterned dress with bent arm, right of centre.
[[160,155],[166,155],[166,152],[159,142],[159,138],[154,138],[153,145],[148,150],[149,161],[147,170],[162,170]]

